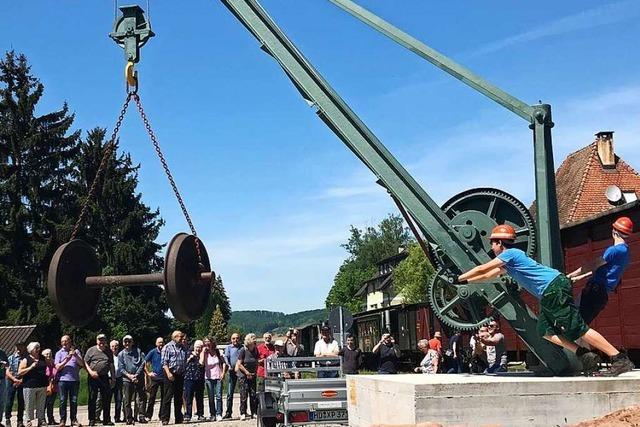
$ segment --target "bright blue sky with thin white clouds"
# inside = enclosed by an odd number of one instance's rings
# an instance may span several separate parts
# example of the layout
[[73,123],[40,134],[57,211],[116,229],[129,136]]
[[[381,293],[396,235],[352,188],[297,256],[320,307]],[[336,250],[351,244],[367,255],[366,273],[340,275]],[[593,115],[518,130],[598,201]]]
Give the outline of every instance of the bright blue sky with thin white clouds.
[[[522,119],[328,1],[262,4],[436,201],[479,186],[533,200]],[[556,167],[614,130],[616,152],[640,168],[639,1],[360,4],[521,100],[550,103]],[[67,101],[76,128],[110,129],[124,98],[113,2],[3,12],[0,47],[28,56],[45,84],[41,111]],[[395,206],[221,3],[152,0],[151,21],[140,94],[233,309],[322,307],[349,225]],[[160,208],[166,242],[187,226],[132,113],[121,147],[142,164],[139,189]]]

